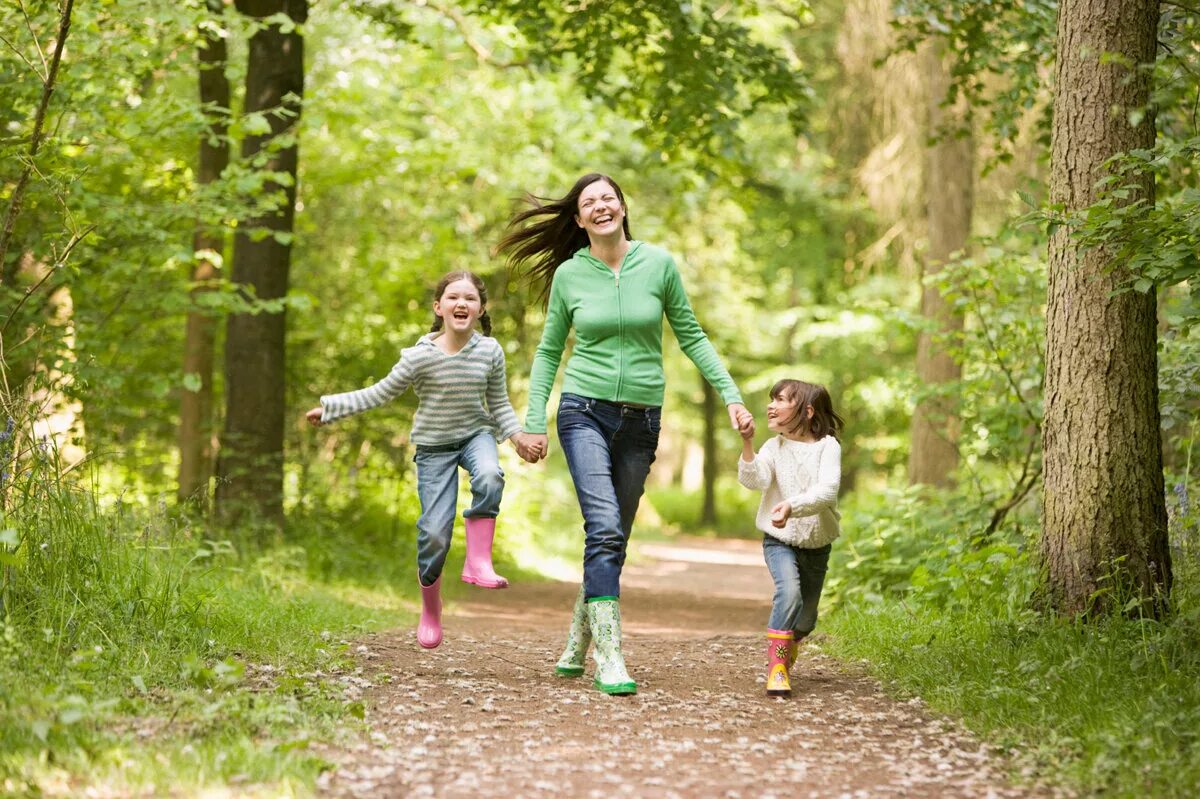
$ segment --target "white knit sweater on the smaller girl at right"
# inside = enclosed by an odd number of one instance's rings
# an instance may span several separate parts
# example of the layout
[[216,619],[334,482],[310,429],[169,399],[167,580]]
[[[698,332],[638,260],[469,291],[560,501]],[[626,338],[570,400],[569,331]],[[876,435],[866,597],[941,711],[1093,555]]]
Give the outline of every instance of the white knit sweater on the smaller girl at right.
[[[833,435],[812,443],[776,435],[762,445],[754,461],[738,458],[738,482],[762,491],[755,527],[767,535],[815,549],[841,534],[841,445]],[[776,528],[770,523],[770,509],[785,499],[792,505],[792,517]]]

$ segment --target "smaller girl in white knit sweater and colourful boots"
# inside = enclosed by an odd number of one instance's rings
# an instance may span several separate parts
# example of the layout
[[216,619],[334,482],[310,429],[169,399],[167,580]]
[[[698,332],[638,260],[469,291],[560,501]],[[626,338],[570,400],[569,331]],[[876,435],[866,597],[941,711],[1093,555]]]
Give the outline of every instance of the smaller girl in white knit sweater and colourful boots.
[[832,542],[840,534],[841,416],[829,392],[803,380],[770,389],[767,428],[778,433],[755,456],[754,431],[742,433],[738,481],[762,491],[755,525],[775,581],[767,625],[767,695],[791,696],[787,672],[817,623]]

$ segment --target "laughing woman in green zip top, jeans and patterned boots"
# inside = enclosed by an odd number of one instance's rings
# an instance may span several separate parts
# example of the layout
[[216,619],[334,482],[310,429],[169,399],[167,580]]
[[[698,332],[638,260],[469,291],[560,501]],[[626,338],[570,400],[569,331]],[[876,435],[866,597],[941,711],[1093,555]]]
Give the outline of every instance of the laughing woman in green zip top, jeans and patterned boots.
[[541,284],[547,301],[524,421],[529,446],[541,453],[548,451],[546,402],[566,336],[575,330],[558,440],[583,512],[583,584],[556,672],[583,674],[594,639],[595,687],[636,693],[620,651],[620,570],[659,443],[664,316],[683,352],[725,401],[733,427],[752,429],[754,417],[696,322],[674,260],[630,235],[617,181],[589,174],[560,199],[528,200],[533,208],[509,222],[499,251]]

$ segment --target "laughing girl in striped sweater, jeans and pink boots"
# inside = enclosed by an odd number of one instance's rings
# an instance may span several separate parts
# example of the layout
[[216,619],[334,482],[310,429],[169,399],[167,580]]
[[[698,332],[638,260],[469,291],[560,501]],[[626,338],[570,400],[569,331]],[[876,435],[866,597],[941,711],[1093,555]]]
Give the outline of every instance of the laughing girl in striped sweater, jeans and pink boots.
[[[504,588],[509,582],[492,567],[496,516],[504,492],[497,440],[512,443],[522,458],[536,461],[509,403],[504,350],[491,338],[487,289],[472,272],[450,272],[433,293],[433,326],[383,380],[360,391],[326,395],[320,407],[305,416],[314,425],[378,408],[408,386],[419,404],[413,416],[416,445],[416,493],[421,517],[416,521],[416,571],[421,585],[421,619],[416,641],[432,649],[442,643],[442,567],[450,551],[458,467],[470,475],[472,505],[463,511],[467,560],[462,579],[482,588]],[[479,322],[484,335],[475,331]]]

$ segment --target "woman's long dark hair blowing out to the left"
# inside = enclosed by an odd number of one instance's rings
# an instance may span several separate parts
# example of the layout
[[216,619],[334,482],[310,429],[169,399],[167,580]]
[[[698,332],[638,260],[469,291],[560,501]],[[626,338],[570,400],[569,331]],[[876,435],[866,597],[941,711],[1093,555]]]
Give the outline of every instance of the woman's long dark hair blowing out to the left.
[[[570,259],[580,247],[589,244],[587,232],[578,226],[575,217],[580,212],[580,194],[600,180],[612,186],[622,208],[626,209],[622,228],[625,230],[625,238],[632,239],[629,233],[629,210],[620,186],[608,175],[593,172],[576,180],[571,191],[559,199],[526,194],[524,202],[533,208],[509,220],[508,233],[496,246],[497,252],[508,254],[511,269],[524,272],[530,283],[541,283],[539,299],[542,302],[550,296],[550,283],[554,278],[554,270]],[[524,224],[530,220],[536,221]]]

